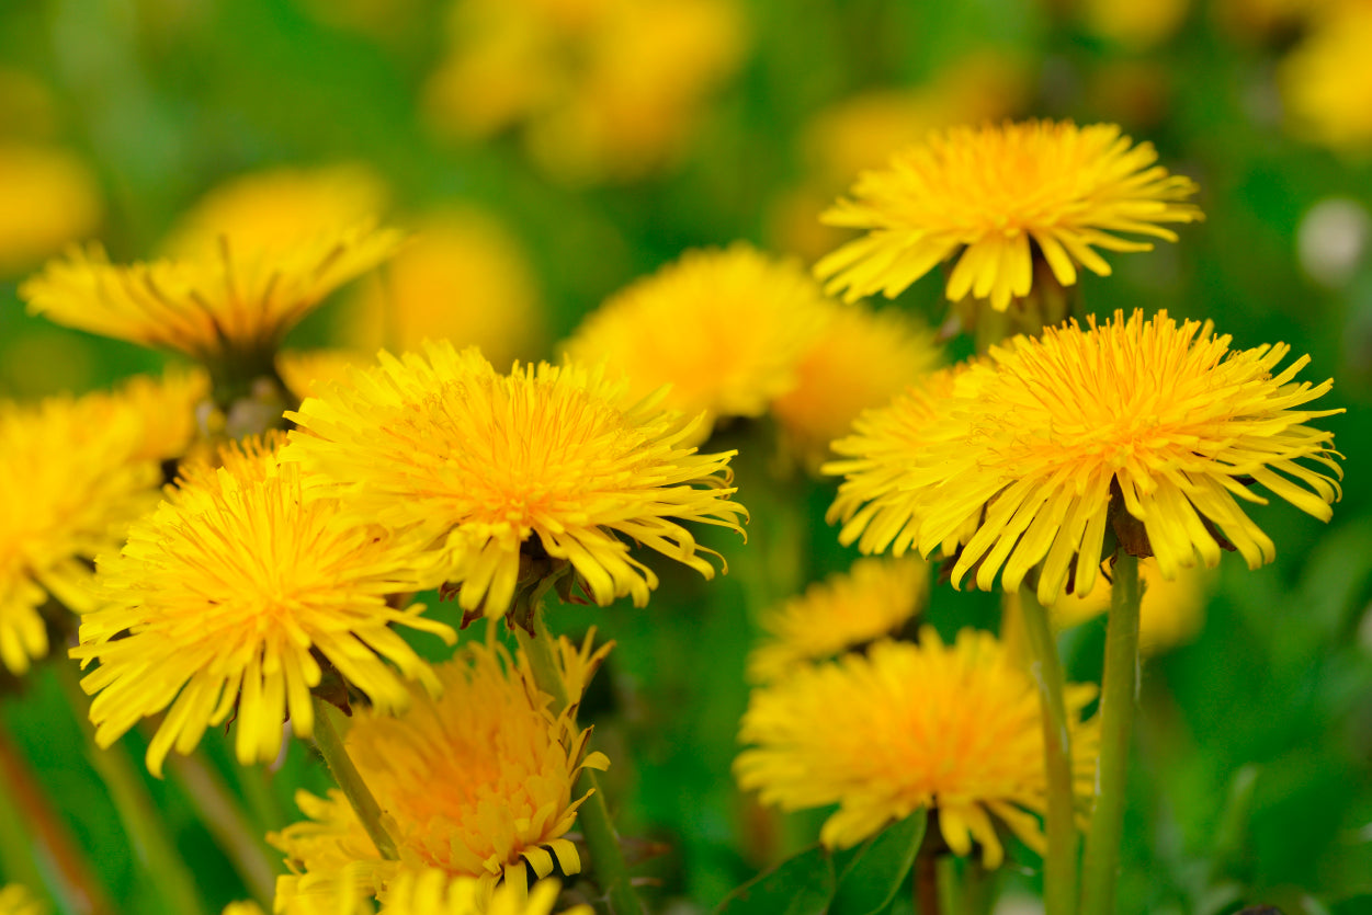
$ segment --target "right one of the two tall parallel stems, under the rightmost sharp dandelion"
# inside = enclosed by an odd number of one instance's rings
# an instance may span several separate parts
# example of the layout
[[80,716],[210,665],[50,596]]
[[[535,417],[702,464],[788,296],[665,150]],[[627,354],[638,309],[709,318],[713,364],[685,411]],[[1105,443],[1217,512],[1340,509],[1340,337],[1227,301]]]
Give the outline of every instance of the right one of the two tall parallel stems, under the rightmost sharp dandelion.
[[1120,551],[1114,565],[1106,669],[1100,689],[1100,759],[1096,763],[1096,808],[1087,833],[1083,864],[1083,915],[1110,915],[1120,877],[1129,731],[1139,698],[1139,560]]

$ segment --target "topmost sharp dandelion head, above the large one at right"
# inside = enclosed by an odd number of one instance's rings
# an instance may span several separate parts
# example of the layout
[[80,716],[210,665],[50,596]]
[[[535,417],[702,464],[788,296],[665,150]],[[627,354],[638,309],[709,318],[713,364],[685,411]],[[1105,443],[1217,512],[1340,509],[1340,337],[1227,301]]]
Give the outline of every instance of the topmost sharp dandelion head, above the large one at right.
[[890,167],[863,173],[852,200],[825,213],[831,225],[867,229],[815,265],[826,291],[853,302],[895,298],[940,262],[958,257],[948,299],[989,298],[997,311],[1029,295],[1039,254],[1062,285],[1077,265],[1110,274],[1095,251],[1148,251],[1146,241],[1177,236],[1159,224],[1192,222],[1191,178],[1169,176],[1152,145],[1111,123],[1078,128],[1030,121],[999,128],[951,128],[896,154]]

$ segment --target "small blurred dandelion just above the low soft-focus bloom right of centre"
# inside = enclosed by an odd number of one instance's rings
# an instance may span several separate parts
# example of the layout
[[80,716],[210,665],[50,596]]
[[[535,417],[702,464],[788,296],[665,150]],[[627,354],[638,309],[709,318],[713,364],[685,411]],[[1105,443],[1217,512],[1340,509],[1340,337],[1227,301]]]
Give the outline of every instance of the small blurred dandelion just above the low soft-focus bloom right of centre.
[[748,679],[778,680],[796,668],[899,632],[929,594],[929,565],[914,557],[858,560],[770,609],[760,626],[767,639],[748,657]]

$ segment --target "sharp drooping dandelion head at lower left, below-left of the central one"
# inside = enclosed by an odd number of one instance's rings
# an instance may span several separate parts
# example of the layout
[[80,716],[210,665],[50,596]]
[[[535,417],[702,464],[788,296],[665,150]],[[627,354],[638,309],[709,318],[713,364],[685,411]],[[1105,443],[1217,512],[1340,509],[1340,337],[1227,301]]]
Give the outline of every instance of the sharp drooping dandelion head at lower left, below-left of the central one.
[[224,466],[191,468],[156,512],[99,560],[102,606],[81,623],[71,656],[99,661],[82,687],[108,746],[139,719],[169,709],[148,745],[161,774],[174,748],[189,753],[210,726],[236,716],[243,764],[272,760],[281,722],[310,737],[310,690],[325,658],[379,709],[410,698],[401,675],[428,689],[429,667],[391,624],[453,631],[397,610],[387,595],[423,590],[413,557],[423,540],[348,524],[333,499],[306,499],[300,472],[266,446],[228,450]]

